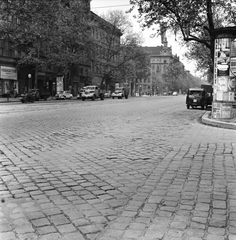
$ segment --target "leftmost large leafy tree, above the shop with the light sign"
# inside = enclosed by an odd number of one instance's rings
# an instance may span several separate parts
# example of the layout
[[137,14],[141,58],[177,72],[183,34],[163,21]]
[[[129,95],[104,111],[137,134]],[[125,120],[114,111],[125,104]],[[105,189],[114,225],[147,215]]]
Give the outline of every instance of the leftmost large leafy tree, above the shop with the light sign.
[[57,6],[56,0],[2,0],[1,39],[11,44],[14,51],[21,52],[16,58],[18,68],[35,69],[35,87],[38,69],[46,66],[43,46],[50,39]]

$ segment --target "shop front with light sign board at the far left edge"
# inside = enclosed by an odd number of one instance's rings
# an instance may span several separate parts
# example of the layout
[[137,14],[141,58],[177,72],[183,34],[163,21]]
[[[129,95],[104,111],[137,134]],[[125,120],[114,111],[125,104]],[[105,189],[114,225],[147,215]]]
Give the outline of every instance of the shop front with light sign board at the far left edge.
[[0,96],[17,96],[18,93],[17,69],[11,66],[0,66]]

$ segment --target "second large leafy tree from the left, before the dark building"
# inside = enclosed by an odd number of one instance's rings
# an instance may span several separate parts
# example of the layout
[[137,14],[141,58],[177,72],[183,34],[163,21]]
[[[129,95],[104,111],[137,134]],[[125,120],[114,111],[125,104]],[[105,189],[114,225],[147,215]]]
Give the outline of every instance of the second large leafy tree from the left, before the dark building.
[[46,57],[50,65],[57,67],[70,85],[78,65],[90,66],[91,22],[88,3],[70,0],[59,1],[55,31],[48,42]]

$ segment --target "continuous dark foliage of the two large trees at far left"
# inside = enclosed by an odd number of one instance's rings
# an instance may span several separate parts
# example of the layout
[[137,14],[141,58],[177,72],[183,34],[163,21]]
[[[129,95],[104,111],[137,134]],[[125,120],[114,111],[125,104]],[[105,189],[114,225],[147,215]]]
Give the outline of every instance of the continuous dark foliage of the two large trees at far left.
[[71,73],[75,64],[88,60],[81,54],[89,54],[91,43],[87,11],[77,0],[2,0],[1,39],[24,53],[16,58],[17,67],[35,69],[35,86],[38,70],[53,66]]

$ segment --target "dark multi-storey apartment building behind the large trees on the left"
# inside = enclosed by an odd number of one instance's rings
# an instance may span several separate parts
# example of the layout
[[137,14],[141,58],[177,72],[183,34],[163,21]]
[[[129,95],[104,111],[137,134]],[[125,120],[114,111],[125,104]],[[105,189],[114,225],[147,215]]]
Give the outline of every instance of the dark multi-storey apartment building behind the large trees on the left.
[[[49,91],[51,95],[60,88],[72,90],[76,95],[84,85],[101,83],[105,71],[117,61],[118,56],[114,49],[120,43],[121,33],[112,24],[90,11],[91,0],[78,1],[85,9],[83,14],[86,16],[83,15],[83,21],[89,23],[94,51],[80,51],[80,60],[73,66],[68,77],[59,73],[53,65],[37,71],[32,66],[17,69],[16,61],[25,54],[24,51],[18,51],[9,39],[0,39],[0,96],[14,94],[14,91],[21,94],[34,87]],[[63,3],[65,8],[71,7],[69,0],[63,0]],[[45,44],[40,46],[41,50],[47,47]]]

